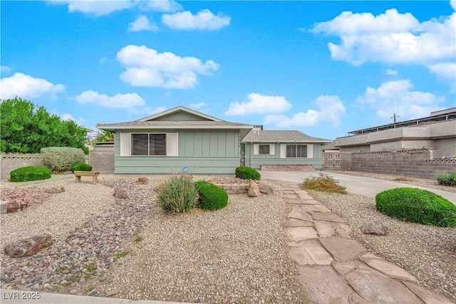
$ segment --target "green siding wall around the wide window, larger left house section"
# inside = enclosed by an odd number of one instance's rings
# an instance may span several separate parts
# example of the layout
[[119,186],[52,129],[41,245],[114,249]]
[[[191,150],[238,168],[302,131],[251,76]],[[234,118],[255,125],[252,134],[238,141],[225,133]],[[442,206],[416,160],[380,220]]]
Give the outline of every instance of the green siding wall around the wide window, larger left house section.
[[172,174],[187,167],[193,174],[234,176],[239,166],[239,130],[128,130],[142,132],[177,133],[177,156],[120,156],[116,132],[116,174]]

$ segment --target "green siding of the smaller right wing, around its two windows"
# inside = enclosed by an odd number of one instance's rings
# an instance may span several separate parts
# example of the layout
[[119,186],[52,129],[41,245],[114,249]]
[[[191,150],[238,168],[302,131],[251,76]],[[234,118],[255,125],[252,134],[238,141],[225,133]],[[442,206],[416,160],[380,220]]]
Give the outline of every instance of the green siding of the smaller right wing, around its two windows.
[[[288,143],[290,145],[296,145],[294,143]],[[281,158],[280,149],[281,145],[286,145],[286,143],[267,143],[267,142],[254,142],[246,143],[246,166],[252,167],[254,169],[260,169],[261,164],[313,164],[316,170],[321,170],[321,165],[323,163],[323,152],[321,143],[305,143],[299,142],[298,145],[311,145],[313,146],[313,155],[310,155],[309,158]],[[274,154],[254,154],[254,145],[274,145]]]

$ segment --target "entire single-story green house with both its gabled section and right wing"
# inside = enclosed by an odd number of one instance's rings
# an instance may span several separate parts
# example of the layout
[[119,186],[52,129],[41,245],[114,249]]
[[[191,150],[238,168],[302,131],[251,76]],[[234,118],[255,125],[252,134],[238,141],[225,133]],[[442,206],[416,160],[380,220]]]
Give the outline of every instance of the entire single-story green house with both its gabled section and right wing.
[[321,169],[321,145],[331,142],[299,131],[257,130],[182,106],[97,127],[115,132],[115,174],[234,176],[239,165],[259,169],[261,164],[314,164]]

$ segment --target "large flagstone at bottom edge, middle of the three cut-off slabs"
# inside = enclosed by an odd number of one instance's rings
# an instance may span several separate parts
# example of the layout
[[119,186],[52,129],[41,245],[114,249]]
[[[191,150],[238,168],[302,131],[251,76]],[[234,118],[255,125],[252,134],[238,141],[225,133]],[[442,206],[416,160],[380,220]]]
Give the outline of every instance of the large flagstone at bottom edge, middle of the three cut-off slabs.
[[421,303],[402,283],[378,271],[356,269],[346,279],[368,303]]

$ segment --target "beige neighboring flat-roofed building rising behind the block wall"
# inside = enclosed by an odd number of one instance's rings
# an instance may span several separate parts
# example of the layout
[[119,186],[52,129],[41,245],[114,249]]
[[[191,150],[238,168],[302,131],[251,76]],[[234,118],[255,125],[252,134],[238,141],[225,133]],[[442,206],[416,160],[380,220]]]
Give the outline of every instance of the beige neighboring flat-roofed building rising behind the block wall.
[[[430,116],[348,132],[324,151],[378,152],[404,149],[430,149],[435,158],[456,154],[456,108],[430,113]],[[329,152],[329,151],[328,151]]]

